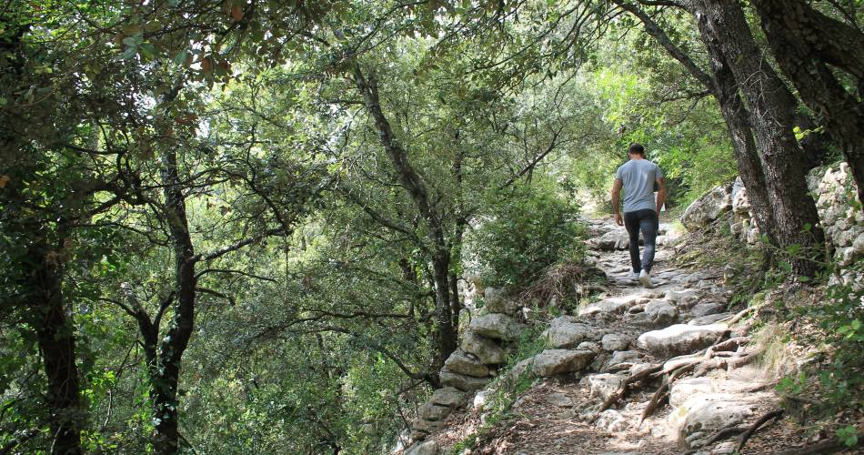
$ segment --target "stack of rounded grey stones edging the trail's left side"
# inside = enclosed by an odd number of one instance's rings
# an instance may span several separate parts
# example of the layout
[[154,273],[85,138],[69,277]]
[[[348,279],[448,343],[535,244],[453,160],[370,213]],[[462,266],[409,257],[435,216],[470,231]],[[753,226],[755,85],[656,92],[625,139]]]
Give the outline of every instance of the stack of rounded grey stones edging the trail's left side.
[[[418,410],[417,420],[412,424],[412,440],[423,440],[439,430],[450,412],[473,401],[475,392],[485,388],[504,363],[507,346],[524,329],[516,319],[522,308],[501,289],[486,288],[484,303],[484,314],[471,319],[459,348],[450,354],[438,373],[444,388],[435,390]],[[417,448],[421,445],[415,444]]]

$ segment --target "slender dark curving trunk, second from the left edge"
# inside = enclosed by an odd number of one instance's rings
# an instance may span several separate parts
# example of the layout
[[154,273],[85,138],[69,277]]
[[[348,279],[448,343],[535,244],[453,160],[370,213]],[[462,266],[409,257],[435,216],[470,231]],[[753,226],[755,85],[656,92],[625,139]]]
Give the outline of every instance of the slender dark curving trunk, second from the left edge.
[[153,371],[155,375],[151,375],[153,417],[156,422],[153,447],[156,453],[177,453],[180,440],[177,385],[180,361],[195,325],[196,258],[189,236],[186,197],[183,196],[178,177],[176,149],[166,152],[162,178],[166,186],[165,218],[174,244],[176,298],[170,329],[159,346],[158,368]]

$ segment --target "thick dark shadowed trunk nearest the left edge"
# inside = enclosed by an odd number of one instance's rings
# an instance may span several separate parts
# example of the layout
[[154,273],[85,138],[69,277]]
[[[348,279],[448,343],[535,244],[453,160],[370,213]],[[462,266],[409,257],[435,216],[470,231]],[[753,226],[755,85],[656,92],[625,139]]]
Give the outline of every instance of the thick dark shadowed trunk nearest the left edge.
[[78,398],[78,369],[75,366],[75,328],[66,317],[61,289],[63,270],[47,260],[50,248],[34,248],[34,289],[36,336],[48,378],[47,405],[51,413],[51,453],[77,454],[81,450],[84,415]]

